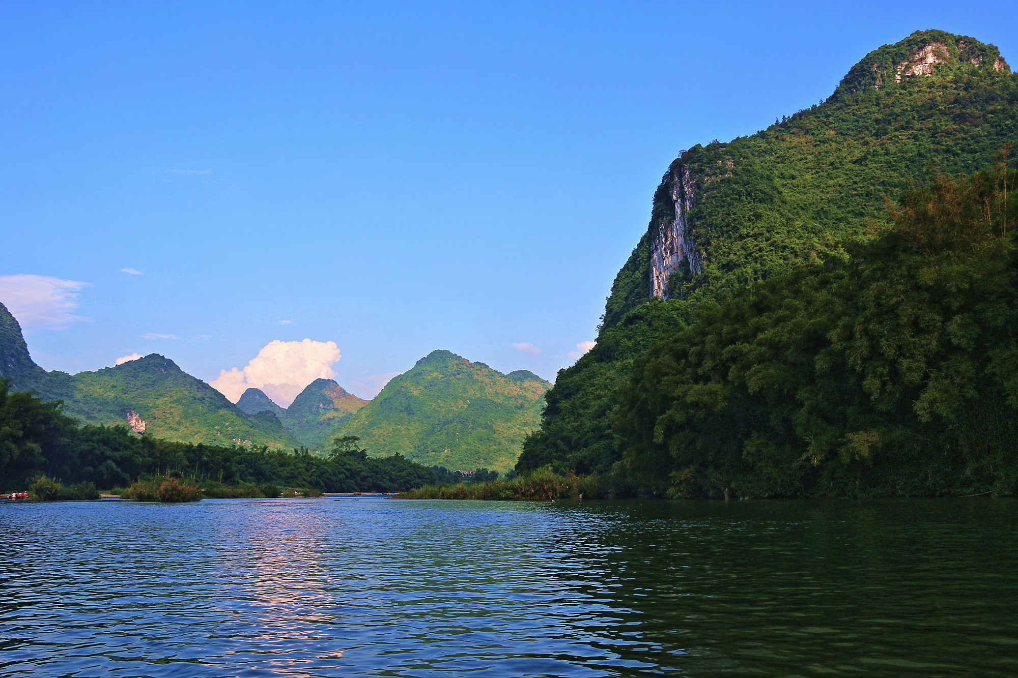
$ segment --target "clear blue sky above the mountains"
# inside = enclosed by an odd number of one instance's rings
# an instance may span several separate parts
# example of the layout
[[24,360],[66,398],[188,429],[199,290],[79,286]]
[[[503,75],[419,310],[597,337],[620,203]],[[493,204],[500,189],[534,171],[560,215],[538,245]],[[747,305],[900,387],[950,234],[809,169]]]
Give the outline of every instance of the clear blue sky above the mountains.
[[27,328],[49,370],[157,352],[211,381],[309,338],[360,395],[436,348],[554,380],[681,149],[918,29],[1018,65],[1016,10],[6,1],[0,276],[70,281]]

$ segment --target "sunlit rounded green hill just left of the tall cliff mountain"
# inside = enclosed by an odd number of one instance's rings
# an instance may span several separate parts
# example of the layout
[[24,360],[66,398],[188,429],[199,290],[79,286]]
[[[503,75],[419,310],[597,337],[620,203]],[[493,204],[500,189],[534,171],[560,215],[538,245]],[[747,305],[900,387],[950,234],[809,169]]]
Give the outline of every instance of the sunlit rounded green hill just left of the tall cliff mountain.
[[335,433],[359,436],[371,456],[402,454],[427,465],[505,471],[538,428],[550,387],[523,370],[503,375],[437,350],[393,378]]

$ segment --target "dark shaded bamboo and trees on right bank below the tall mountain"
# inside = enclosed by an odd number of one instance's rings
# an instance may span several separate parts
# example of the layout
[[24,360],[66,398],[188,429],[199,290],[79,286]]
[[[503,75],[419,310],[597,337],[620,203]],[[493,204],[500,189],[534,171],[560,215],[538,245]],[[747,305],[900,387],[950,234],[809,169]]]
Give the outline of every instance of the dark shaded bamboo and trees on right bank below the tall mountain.
[[617,470],[669,496],[1013,494],[1018,172],[938,177],[844,256],[637,359]]

